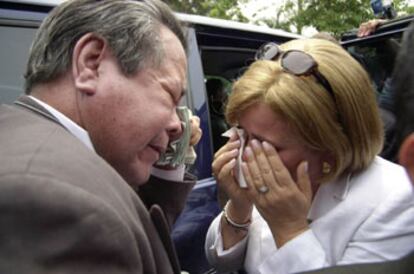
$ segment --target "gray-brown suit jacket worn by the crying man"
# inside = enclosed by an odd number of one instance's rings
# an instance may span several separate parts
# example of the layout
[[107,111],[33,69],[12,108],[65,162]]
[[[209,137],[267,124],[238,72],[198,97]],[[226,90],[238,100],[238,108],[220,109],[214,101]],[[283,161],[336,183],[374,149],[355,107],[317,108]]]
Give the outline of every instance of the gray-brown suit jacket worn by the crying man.
[[177,272],[168,235],[136,192],[42,107],[20,101],[0,106],[0,273]]

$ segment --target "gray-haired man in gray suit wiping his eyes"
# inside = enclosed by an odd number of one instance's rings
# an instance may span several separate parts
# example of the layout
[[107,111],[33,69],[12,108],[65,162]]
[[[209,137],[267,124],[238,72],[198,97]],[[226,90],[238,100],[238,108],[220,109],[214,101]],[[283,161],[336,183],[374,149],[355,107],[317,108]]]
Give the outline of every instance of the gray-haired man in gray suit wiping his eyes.
[[180,272],[168,229],[157,232],[163,211],[150,216],[135,190],[158,172],[148,185],[168,189],[173,221],[193,186],[183,167],[153,168],[182,133],[186,68],[159,0],[73,0],[48,15],[27,95],[0,106],[0,273]]

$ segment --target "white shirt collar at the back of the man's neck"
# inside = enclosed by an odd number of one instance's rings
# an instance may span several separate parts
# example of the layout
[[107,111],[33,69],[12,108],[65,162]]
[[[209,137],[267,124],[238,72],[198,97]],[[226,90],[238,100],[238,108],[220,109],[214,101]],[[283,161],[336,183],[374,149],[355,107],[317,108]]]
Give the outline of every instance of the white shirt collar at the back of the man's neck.
[[46,104],[45,102],[42,102],[41,100],[30,96],[31,99],[33,99],[36,103],[44,107],[47,111],[49,111],[53,116],[55,116],[56,119],[67,129],[70,133],[72,133],[76,138],[78,138],[85,146],[87,146],[92,151],[95,151],[91,138],[89,137],[89,134],[86,130],[81,128],[79,125],[77,125],[75,122],[73,122],[71,119],[66,117],[63,113],[59,112],[55,108],[51,107],[50,105]]

